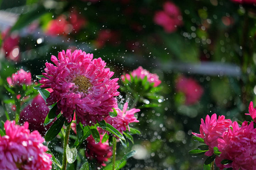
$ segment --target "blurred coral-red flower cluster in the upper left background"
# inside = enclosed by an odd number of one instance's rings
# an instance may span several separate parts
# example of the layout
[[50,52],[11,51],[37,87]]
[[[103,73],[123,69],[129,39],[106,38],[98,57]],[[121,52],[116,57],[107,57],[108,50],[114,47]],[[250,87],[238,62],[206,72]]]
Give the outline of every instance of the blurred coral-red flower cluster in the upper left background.
[[68,35],[71,32],[79,32],[86,25],[86,20],[76,10],[70,13],[69,18],[60,15],[48,23],[47,35]]

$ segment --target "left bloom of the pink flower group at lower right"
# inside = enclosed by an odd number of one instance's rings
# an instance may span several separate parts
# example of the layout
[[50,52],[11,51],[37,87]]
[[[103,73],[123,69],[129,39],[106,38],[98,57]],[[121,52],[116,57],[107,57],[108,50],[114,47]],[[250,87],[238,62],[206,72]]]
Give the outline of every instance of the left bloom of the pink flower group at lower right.
[[201,119],[200,134],[192,133],[196,137],[203,138],[204,143],[209,146],[209,151],[205,152],[205,155],[212,156],[213,147],[217,147],[217,139],[221,138],[224,131],[228,131],[232,121],[230,119],[225,119],[225,116],[218,116],[214,113],[211,117],[207,115],[205,122],[203,118]]

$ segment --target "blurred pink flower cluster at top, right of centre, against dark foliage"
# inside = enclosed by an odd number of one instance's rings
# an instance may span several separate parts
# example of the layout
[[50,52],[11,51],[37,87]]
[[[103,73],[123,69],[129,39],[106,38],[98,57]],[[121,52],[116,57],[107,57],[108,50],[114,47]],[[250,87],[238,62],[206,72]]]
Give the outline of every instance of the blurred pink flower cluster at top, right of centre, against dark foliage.
[[177,26],[183,25],[179,7],[169,1],[164,3],[163,11],[155,13],[154,22],[161,25],[167,33],[175,32]]

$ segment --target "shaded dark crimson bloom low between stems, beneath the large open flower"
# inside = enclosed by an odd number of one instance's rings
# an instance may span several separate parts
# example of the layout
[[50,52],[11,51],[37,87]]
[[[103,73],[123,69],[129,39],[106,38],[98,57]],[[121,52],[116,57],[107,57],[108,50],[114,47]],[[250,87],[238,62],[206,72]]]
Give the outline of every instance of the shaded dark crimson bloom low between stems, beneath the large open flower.
[[[103,135],[100,135],[100,137],[102,140]],[[95,143],[92,135],[86,141],[88,141],[85,148],[86,157],[90,160],[96,160],[98,167],[106,166],[105,162],[112,156],[112,147],[108,145],[108,142]]]

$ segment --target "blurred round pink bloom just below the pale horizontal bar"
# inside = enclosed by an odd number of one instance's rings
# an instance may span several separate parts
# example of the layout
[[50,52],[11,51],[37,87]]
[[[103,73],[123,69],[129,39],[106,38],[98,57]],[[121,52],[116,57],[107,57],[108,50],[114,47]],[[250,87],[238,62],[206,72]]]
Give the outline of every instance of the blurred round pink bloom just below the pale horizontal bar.
[[183,92],[185,95],[185,104],[195,104],[200,100],[204,93],[203,87],[200,86],[194,79],[180,76],[177,79],[176,88],[178,92]]

